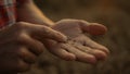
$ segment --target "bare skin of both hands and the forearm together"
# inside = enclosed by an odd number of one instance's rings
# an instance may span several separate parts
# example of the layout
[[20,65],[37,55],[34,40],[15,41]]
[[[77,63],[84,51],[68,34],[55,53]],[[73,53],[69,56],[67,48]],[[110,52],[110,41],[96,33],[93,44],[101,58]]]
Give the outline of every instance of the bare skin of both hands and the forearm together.
[[90,64],[106,59],[109,52],[84,35],[105,34],[106,27],[101,24],[81,20],[54,23],[32,0],[18,4],[16,12],[17,23],[0,30],[0,73],[16,74],[29,70],[44,47],[61,59]]

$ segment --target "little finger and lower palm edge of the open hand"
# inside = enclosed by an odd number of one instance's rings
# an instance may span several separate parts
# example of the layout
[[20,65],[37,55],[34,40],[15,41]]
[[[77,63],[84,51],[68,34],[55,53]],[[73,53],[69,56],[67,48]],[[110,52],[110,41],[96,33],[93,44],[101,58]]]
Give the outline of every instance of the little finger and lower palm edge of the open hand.
[[63,44],[57,44],[56,41],[49,39],[44,40],[44,42],[48,50],[56,57],[67,61],[73,61],[76,59],[75,54],[66,51],[64,48],[61,47]]

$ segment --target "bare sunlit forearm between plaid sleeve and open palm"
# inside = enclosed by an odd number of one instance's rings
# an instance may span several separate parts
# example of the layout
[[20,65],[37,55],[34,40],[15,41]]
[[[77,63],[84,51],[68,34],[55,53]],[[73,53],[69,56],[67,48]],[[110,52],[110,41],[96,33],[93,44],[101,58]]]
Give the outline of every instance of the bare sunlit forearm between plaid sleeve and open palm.
[[41,24],[52,26],[54,22],[48,18],[31,1],[20,4],[17,7],[17,21],[29,22],[34,24]]

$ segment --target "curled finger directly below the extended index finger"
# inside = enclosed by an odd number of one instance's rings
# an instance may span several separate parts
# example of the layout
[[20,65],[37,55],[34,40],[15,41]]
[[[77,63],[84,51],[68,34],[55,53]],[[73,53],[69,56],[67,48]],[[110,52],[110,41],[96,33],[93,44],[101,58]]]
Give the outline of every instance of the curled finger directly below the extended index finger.
[[21,34],[16,39],[17,44],[26,46],[32,53],[39,55],[44,50],[44,46],[42,42],[32,39],[27,34]]

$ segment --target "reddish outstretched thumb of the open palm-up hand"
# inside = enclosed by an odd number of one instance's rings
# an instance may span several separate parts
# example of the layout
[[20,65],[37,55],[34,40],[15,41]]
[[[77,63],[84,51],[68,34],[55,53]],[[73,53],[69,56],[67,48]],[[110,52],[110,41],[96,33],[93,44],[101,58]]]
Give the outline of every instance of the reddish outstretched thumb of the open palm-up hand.
[[107,32],[107,28],[99,23],[88,23],[82,21],[80,23],[81,29],[91,35],[104,35]]

